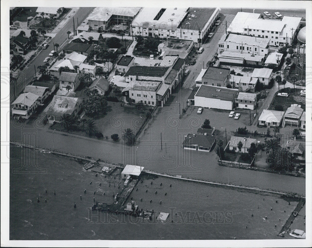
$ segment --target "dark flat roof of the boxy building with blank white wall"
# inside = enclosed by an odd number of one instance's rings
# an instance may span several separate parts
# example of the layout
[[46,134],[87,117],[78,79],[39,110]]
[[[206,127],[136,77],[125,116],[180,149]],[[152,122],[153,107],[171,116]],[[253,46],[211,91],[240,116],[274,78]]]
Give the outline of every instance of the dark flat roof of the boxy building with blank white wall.
[[234,101],[238,96],[238,90],[201,85],[195,97],[215,98],[222,101]]

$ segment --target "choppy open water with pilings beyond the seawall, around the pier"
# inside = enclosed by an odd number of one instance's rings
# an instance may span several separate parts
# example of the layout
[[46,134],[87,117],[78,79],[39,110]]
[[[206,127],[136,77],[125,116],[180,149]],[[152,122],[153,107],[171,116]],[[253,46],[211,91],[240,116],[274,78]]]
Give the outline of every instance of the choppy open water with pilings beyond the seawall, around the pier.
[[[46,171],[27,173],[31,169],[39,170],[29,166],[12,173],[14,168],[20,167],[18,160],[25,154],[28,161],[35,158],[35,164]],[[85,171],[81,162],[49,153],[33,153],[22,147],[10,147],[10,157],[12,240],[291,238],[277,234],[297,202],[291,201],[289,205],[275,195],[144,175],[143,183],[137,185],[138,190],[130,194],[139,208],[155,211],[151,221],[143,220],[90,211],[93,198],[99,202],[113,201],[113,193],[118,192],[117,181],[114,188],[114,176],[105,178],[100,174],[96,177],[94,172]],[[168,212],[167,221],[156,220],[158,212]],[[299,215],[305,213],[301,211]],[[302,225],[302,221],[298,225]]]

